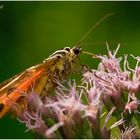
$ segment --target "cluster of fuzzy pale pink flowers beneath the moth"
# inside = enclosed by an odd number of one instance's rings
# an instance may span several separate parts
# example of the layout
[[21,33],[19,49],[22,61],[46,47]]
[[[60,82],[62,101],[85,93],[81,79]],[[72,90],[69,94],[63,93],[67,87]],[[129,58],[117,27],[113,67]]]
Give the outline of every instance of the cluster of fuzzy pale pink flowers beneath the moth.
[[[136,60],[135,68],[130,68],[128,55],[116,57],[119,46],[114,52],[108,49],[108,55],[97,56],[98,69],[84,67],[80,85],[74,80],[57,81],[52,97],[28,94],[29,107],[18,113],[20,122],[45,138],[111,138],[115,127],[119,138],[138,138],[140,58],[130,55]],[[116,121],[108,126],[112,117]],[[126,135],[129,128],[132,137]]]

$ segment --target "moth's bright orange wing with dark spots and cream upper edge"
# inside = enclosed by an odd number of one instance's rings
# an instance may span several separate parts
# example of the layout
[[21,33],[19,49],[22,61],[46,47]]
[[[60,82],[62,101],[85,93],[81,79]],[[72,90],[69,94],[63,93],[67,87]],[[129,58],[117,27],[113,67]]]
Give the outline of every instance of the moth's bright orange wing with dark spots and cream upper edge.
[[[55,60],[49,60],[27,69],[25,72],[0,84],[0,118],[2,118],[10,107],[22,96],[21,93],[29,90],[43,75],[49,74],[49,69],[55,64]],[[43,85],[45,86],[45,85]],[[43,86],[41,88],[43,88]],[[40,90],[41,92],[41,90]]]

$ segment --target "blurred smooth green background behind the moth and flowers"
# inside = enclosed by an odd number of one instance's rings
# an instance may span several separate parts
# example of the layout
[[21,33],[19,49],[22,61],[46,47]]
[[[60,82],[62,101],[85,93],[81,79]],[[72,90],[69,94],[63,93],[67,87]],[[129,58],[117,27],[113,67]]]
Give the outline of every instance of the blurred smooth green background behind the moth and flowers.
[[[0,81],[40,63],[52,52],[74,46],[104,15],[114,12],[85,38],[83,49],[106,54],[122,43],[118,55],[140,53],[140,2],[0,2]],[[96,68],[98,61],[82,55]],[[16,119],[0,120],[0,138],[32,138]]]

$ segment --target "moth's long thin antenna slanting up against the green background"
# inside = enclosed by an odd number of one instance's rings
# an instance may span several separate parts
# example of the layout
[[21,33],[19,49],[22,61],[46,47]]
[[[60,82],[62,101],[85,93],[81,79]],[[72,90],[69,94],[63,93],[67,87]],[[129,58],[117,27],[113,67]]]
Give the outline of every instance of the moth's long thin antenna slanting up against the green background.
[[83,41],[101,22],[103,22],[105,19],[107,19],[108,17],[114,15],[114,13],[109,13],[107,15],[105,15],[104,17],[102,17],[100,20],[98,20],[88,31],[87,33],[77,42],[77,44],[79,44],[81,41]]

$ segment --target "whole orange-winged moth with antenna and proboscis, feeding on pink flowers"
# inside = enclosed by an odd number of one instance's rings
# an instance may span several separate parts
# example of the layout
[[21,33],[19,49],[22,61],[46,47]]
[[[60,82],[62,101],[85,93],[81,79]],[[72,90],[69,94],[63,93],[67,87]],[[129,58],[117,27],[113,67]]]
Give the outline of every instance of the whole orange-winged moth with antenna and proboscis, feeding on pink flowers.
[[[99,20],[81,40],[110,15],[112,15],[112,13]],[[22,97],[22,92],[28,93],[28,91],[31,90],[33,84],[36,93],[49,93],[56,84],[54,82],[55,78],[61,80],[74,71],[75,62],[80,53],[94,56],[92,53],[83,51],[78,45],[73,48],[65,47],[54,52],[42,63],[2,82],[0,84],[0,118],[10,110],[14,103],[19,102]]]

